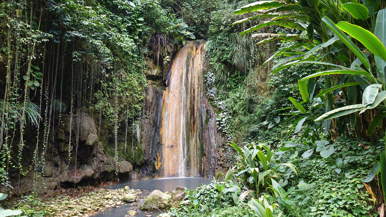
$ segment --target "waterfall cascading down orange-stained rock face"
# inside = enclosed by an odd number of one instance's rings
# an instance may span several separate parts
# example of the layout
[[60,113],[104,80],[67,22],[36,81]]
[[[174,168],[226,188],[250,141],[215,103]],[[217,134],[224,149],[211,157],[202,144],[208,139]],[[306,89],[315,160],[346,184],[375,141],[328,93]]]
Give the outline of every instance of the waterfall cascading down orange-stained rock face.
[[214,174],[217,133],[215,114],[205,97],[204,44],[187,42],[173,61],[162,99],[157,177]]

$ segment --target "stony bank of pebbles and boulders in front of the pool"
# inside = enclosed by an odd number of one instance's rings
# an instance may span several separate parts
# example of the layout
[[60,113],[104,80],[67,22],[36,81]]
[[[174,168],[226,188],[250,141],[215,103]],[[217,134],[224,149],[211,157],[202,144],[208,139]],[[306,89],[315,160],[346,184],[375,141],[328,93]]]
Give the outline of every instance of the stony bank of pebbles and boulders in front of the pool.
[[[43,197],[31,201],[16,201],[15,207],[24,212],[40,213],[44,217],[92,217],[100,215],[109,208],[119,208],[129,205],[126,217],[136,216],[138,211],[145,212],[145,216],[152,217],[158,214],[151,211],[179,207],[186,193],[182,187],[172,192],[154,190],[130,189],[128,186],[120,189],[105,189],[102,187],[79,187],[57,192],[52,197]],[[127,208],[127,207],[126,207]]]

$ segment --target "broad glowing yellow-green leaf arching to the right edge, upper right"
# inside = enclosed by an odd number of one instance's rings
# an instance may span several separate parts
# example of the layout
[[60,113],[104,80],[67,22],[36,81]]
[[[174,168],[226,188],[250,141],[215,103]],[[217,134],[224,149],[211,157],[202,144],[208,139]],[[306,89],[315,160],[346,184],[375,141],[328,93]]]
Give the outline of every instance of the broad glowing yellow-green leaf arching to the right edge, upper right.
[[337,24],[337,27],[362,43],[373,54],[386,61],[386,48],[373,33],[360,26],[345,21],[340,21]]

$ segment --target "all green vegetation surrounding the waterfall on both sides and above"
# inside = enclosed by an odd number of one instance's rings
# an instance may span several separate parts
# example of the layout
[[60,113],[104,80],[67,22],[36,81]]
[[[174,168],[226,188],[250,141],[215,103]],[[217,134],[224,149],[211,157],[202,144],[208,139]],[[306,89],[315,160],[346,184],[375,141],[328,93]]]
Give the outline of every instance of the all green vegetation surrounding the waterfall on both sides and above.
[[[161,32],[180,45],[208,40],[206,92],[218,130],[232,141],[224,148],[228,171],[187,190],[169,215],[383,216],[385,7],[383,0],[4,1],[1,182],[11,187],[9,167],[44,170],[42,153],[62,113],[106,118],[117,150],[118,128],[134,128],[141,116],[146,44]],[[25,169],[23,135],[31,129],[36,148]],[[77,145],[69,142],[69,158]]]

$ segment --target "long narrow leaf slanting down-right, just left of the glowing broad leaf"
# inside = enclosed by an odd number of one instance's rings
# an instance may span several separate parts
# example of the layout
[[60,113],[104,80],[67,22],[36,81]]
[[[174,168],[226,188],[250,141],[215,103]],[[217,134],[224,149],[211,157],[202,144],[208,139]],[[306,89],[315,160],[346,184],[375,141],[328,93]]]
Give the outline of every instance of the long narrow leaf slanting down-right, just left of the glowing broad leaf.
[[322,20],[327,26],[339,37],[340,40],[362,61],[367,70],[370,71],[370,62],[367,57],[359,50],[358,47],[335,25],[328,17],[323,17]]

